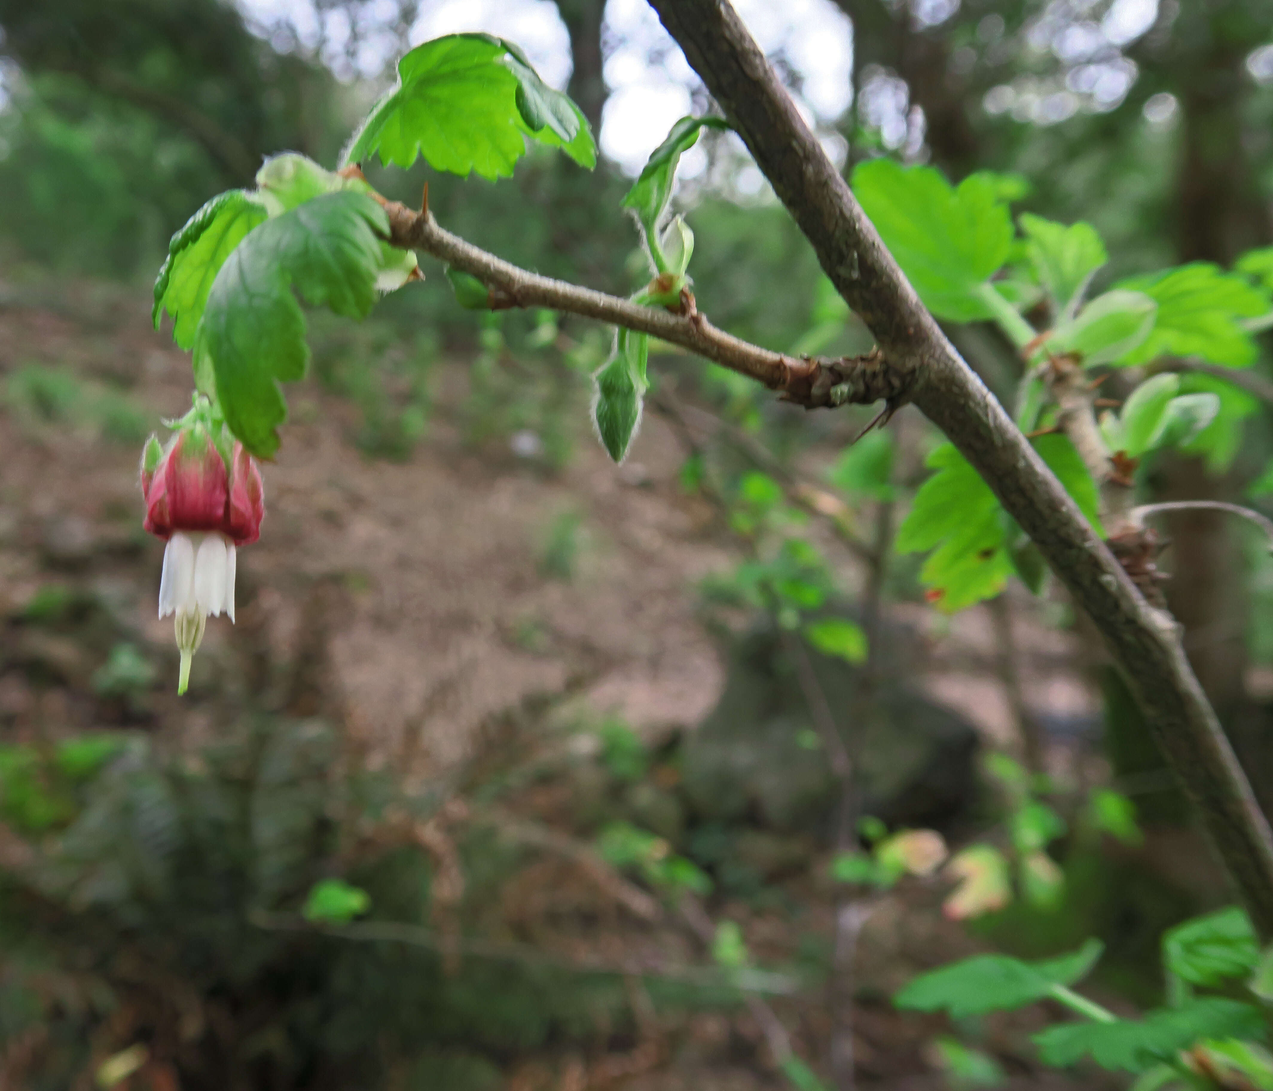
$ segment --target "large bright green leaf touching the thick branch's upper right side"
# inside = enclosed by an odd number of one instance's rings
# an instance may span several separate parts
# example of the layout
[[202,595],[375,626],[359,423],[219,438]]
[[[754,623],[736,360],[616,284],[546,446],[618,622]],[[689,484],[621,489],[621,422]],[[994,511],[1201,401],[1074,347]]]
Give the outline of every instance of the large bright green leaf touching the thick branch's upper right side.
[[929,311],[994,317],[979,289],[1008,258],[1012,218],[992,181],[973,174],[955,188],[932,167],[869,159],[854,168],[853,192]]

